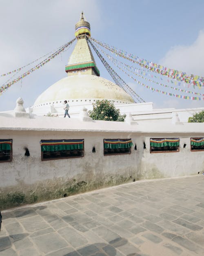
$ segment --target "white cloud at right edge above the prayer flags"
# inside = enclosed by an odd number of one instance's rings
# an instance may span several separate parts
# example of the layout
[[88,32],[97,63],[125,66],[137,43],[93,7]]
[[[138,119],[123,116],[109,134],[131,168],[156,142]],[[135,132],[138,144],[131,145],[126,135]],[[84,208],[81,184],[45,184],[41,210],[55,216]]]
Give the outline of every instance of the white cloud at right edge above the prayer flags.
[[159,63],[188,74],[204,76],[204,30],[199,32],[192,45],[172,47]]

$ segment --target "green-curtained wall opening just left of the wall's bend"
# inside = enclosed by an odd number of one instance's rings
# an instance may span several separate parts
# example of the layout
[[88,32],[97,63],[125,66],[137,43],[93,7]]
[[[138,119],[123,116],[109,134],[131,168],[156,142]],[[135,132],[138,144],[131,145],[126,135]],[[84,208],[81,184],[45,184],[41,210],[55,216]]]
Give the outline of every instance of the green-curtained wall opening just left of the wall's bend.
[[130,154],[132,146],[131,139],[104,139],[104,155]]

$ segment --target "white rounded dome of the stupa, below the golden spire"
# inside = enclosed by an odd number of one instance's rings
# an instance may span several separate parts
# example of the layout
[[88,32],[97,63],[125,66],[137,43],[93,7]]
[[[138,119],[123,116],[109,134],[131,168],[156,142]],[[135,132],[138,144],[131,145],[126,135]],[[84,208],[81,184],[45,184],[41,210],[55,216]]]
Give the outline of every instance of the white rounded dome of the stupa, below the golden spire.
[[55,104],[57,101],[84,99],[110,99],[119,103],[133,103],[133,99],[115,83],[100,76],[67,76],[51,85],[36,99],[33,107],[44,103]]

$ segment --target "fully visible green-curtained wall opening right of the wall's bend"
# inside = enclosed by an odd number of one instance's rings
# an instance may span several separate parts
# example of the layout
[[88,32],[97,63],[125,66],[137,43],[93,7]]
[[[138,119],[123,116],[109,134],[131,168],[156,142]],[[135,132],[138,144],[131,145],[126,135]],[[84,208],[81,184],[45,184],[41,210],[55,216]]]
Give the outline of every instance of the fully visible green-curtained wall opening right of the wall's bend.
[[179,152],[179,138],[151,138],[150,153]]

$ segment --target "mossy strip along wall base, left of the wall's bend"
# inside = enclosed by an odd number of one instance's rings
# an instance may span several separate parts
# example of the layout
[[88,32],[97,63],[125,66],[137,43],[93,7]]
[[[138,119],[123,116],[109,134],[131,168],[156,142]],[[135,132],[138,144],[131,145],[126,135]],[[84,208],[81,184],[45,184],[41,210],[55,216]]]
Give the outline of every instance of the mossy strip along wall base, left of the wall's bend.
[[[132,175],[106,175],[97,180],[77,180],[77,178],[64,181],[62,178],[46,180],[33,185],[20,184],[18,187],[9,187],[0,191],[0,209],[9,209],[23,204],[32,204],[57,198],[67,197],[94,189],[131,182]],[[8,191],[10,191],[8,193]]]

